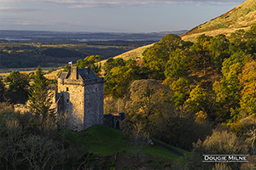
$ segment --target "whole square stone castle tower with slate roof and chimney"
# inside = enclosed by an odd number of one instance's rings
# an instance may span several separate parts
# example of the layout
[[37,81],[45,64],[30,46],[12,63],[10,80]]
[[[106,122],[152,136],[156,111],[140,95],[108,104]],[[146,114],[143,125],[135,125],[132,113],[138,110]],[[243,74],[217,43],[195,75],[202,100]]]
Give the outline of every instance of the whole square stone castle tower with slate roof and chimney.
[[57,111],[68,114],[67,127],[77,131],[103,124],[104,78],[90,67],[72,66],[71,74],[61,72],[56,94]]

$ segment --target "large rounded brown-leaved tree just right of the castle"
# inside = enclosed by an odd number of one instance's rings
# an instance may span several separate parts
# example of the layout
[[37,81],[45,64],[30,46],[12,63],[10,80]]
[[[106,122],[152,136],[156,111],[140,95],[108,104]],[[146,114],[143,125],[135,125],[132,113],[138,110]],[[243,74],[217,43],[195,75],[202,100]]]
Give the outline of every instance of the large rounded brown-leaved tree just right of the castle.
[[172,111],[172,91],[168,86],[154,80],[137,80],[131,82],[125,97],[125,121],[122,127],[134,131],[140,124],[140,133],[148,136],[158,135],[163,130],[163,124]]

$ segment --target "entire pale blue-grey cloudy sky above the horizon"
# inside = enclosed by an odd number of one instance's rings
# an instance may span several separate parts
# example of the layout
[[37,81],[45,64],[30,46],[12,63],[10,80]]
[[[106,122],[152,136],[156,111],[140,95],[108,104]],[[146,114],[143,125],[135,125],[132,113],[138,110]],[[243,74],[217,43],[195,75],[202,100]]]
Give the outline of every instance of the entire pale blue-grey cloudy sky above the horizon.
[[0,0],[0,30],[190,30],[244,0]]

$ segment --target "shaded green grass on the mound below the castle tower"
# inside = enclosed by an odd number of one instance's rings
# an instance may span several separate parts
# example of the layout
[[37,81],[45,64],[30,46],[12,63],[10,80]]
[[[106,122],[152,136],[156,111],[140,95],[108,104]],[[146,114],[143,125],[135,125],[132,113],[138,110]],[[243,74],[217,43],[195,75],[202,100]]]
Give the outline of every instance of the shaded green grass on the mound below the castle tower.
[[[102,156],[114,155],[117,151],[125,150],[131,152],[131,144],[125,139],[128,135],[124,135],[121,131],[103,125],[96,125],[89,127],[85,132],[74,132],[67,130],[67,142],[70,144],[84,145],[86,150],[97,152]],[[174,147],[173,147],[174,148]],[[184,155],[189,152],[181,149],[174,148]],[[182,157],[176,156],[169,150],[160,146],[146,146],[143,153],[153,156],[163,156],[166,158],[183,160]]]

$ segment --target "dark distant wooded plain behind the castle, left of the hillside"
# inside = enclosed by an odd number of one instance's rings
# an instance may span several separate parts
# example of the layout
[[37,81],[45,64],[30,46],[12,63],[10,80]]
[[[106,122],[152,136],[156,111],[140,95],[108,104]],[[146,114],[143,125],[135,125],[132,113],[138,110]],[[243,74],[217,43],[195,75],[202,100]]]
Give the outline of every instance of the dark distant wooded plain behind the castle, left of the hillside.
[[[8,42],[0,41],[0,69],[58,67],[69,61],[76,62],[86,56],[98,54],[103,59],[123,54],[133,48],[155,41],[97,41],[62,44],[55,42]],[[60,44],[58,44],[60,43]]]

